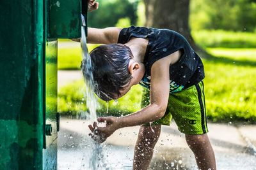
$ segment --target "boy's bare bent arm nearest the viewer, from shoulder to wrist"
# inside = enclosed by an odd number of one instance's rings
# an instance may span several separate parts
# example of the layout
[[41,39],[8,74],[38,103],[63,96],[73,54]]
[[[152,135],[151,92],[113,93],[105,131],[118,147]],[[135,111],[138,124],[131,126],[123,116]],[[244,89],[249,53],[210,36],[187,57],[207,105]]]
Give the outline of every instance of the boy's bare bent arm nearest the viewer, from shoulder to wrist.
[[170,92],[170,64],[168,62],[168,57],[166,57],[153,64],[151,68],[150,104],[132,115],[120,117],[120,127],[154,122],[164,116]]

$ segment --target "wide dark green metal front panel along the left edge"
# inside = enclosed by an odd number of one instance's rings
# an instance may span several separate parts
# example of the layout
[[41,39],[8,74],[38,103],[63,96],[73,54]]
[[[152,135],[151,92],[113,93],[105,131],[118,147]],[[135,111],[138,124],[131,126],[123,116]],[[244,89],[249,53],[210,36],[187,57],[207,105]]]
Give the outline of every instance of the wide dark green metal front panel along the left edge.
[[0,5],[0,169],[42,169],[44,4]]

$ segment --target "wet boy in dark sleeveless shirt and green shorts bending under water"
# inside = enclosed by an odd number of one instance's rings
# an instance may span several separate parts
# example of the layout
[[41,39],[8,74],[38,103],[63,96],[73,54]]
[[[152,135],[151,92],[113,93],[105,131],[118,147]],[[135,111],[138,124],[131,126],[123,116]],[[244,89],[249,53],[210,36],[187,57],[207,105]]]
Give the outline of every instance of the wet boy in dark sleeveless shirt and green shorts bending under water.
[[[90,0],[89,10],[97,10],[98,5]],[[87,41],[105,44],[90,53],[97,96],[109,101],[124,96],[132,85],[140,83],[147,88],[140,111],[125,117],[98,118],[98,122],[107,123],[106,127],[97,127],[94,122],[89,125],[92,132],[108,138],[116,129],[141,125],[133,169],[147,169],[161,125],[170,125],[173,117],[179,131],[186,134],[198,168],[216,169],[207,137],[204,66],[182,35],[168,29],[134,26],[88,28]]]

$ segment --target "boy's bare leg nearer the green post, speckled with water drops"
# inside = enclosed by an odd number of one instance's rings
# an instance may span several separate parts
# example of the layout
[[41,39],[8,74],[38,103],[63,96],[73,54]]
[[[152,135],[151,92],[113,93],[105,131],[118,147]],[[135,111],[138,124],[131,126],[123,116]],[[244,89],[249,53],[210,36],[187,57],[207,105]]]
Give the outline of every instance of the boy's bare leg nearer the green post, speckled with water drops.
[[[154,132],[152,131],[154,130]],[[148,169],[153,157],[154,146],[160,136],[161,125],[141,126],[138,139],[134,148],[133,169]]]

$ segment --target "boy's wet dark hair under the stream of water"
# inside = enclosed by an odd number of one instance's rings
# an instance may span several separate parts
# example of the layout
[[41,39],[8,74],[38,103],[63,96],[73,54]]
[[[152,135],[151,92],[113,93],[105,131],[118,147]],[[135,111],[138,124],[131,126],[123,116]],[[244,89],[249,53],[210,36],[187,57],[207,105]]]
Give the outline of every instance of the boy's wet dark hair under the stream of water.
[[[122,44],[100,45],[90,52],[94,92],[100,99],[110,101],[132,79],[129,73],[129,61],[133,58],[131,49]],[[86,78],[86,69],[81,68]]]

